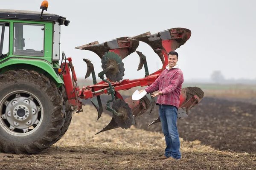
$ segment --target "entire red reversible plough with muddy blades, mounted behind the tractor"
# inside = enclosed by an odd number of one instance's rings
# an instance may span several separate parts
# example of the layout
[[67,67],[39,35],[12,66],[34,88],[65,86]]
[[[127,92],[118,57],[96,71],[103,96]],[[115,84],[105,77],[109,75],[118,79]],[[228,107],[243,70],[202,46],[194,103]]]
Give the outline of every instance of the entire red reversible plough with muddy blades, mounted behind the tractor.
[[[76,74],[73,68],[72,59],[67,58],[69,64],[66,65],[62,63],[62,68],[64,70],[64,83],[66,85],[66,90],[68,99],[72,103],[78,112],[82,111],[81,102],[79,99],[91,99],[91,102],[95,106],[98,112],[98,119],[101,117],[103,112],[102,101],[100,98],[101,94],[111,95],[111,99],[108,100],[106,104],[106,110],[113,113],[113,118],[111,122],[100,130],[98,133],[111,130],[117,127],[130,128],[131,125],[136,125],[136,117],[142,115],[150,109],[150,113],[154,108],[155,99],[147,94],[142,99],[138,101],[132,100],[131,96],[123,99],[122,95],[118,92],[120,90],[128,90],[137,86],[148,86],[151,85],[161,72],[168,65],[168,53],[169,51],[175,51],[181,45],[183,45],[191,36],[191,31],[186,28],[172,28],[165,31],[158,32],[156,34],[151,34],[150,32],[140,34],[135,37],[121,37],[111,41],[100,43],[98,41],[91,42],[86,45],[76,47],[80,50],[89,50],[96,53],[100,59],[102,59],[102,69],[97,76],[102,79],[101,82],[96,82],[96,74],[92,62],[89,59],[83,59],[87,63],[87,73],[85,78],[92,75],[93,85],[84,86],[81,89],[77,86]],[[149,74],[148,65],[145,55],[142,52],[136,51],[139,42],[145,42],[153,48],[154,52],[159,56],[163,66],[156,72]],[[125,59],[131,53],[136,52],[140,57],[140,64],[137,71],[143,68],[145,69],[145,77],[141,79],[124,79],[124,63],[122,59]],[[65,66],[66,65],[66,66]],[[70,75],[69,67],[73,75]],[[105,77],[106,79],[105,79]],[[67,77],[67,78],[66,78]],[[67,86],[70,82],[70,77],[73,77],[74,86],[71,84]],[[122,81],[120,81],[122,80]],[[66,83],[67,82],[67,83]],[[196,88],[196,87],[195,87]],[[74,90],[75,89],[75,90]],[[186,93],[186,88],[183,88],[180,95],[180,106],[178,110],[178,117],[188,116],[188,110],[194,107],[198,102],[201,101],[203,96],[201,89],[196,88],[198,94],[189,95],[188,98]],[[111,103],[113,104],[111,105]],[[97,120],[98,120],[97,119]],[[160,122],[157,118],[154,122],[148,124],[148,126]],[[98,134],[96,133],[96,134]]]

